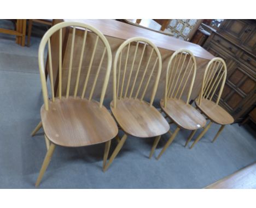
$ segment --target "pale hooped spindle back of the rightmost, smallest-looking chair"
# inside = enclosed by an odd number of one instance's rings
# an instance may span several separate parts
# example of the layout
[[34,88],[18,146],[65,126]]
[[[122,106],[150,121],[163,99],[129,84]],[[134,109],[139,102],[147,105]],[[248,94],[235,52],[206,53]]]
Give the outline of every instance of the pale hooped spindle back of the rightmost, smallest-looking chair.
[[[203,75],[202,87],[199,96],[199,105],[202,99],[212,100],[218,93],[216,105],[222,96],[224,84],[226,81],[226,64],[222,58],[213,58],[206,66]],[[219,90],[219,91],[218,91]]]

